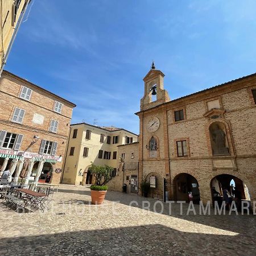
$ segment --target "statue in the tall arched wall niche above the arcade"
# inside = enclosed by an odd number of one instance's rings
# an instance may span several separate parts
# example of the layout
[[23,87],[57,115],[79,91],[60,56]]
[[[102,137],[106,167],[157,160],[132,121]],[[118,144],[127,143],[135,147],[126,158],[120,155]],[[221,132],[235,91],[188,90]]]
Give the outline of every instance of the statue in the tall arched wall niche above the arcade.
[[213,155],[229,155],[229,148],[226,147],[226,134],[219,125],[214,124],[211,129]]

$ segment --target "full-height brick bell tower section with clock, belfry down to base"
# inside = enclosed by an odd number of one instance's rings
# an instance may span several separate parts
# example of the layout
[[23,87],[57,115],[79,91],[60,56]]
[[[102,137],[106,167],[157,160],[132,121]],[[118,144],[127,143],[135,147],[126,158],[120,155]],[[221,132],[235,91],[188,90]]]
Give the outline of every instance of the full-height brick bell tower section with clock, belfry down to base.
[[[138,181],[155,177],[156,185],[150,195],[163,197],[163,181],[170,179],[168,154],[167,112],[166,108],[155,108],[170,101],[164,90],[164,74],[155,69],[154,62],[144,77],[144,96],[141,99],[139,116],[139,172]],[[139,186],[139,193],[142,193]]]

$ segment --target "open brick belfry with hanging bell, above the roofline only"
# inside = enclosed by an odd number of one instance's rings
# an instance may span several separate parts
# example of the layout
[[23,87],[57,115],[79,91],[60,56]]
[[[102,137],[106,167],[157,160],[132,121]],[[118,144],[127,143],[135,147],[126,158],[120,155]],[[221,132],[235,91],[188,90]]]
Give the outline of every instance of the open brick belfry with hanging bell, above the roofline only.
[[[144,96],[141,99],[141,111],[153,108],[154,106],[170,101],[167,90],[164,90],[163,85],[164,73],[155,69],[154,61],[151,69],[144,77]],[[156,93],[156,100],[153,96]]]

